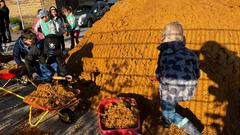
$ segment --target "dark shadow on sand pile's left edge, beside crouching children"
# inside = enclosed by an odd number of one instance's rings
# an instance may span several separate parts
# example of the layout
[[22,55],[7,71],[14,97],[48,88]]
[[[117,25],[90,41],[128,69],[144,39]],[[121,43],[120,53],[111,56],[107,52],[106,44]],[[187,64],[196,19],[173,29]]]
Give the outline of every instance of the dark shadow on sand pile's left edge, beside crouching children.
[[84,44],[80,50],[74,52],[69,56],[70,58],[67,61],[67,69],[68,72],[73,75],[74,77],[78,77],[83,72],[83,61],[82,58],[92,58],[92,49],[93,43],[86,43]]

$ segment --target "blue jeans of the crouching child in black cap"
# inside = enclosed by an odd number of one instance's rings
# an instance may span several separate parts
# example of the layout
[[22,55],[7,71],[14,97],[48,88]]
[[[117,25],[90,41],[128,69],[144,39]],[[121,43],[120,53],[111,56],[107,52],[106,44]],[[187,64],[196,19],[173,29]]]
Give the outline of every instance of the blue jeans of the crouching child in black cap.
[[45,82],[51,82],[54,72],[59,71],[56,62],[52,64],[39,64],[36,68],[37,74],[39,75],[36,79]]

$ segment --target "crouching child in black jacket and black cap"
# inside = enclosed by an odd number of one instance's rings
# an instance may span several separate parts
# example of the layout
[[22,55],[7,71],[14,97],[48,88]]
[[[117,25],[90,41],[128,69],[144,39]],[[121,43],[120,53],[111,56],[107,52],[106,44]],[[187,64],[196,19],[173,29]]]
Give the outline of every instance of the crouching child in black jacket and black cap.
[[48,35],[41,44],[33,46],[26,57],[26,67],[34,79],[51,82],[54,73],[71,78],[67,75],[61,43],[56,35]]

